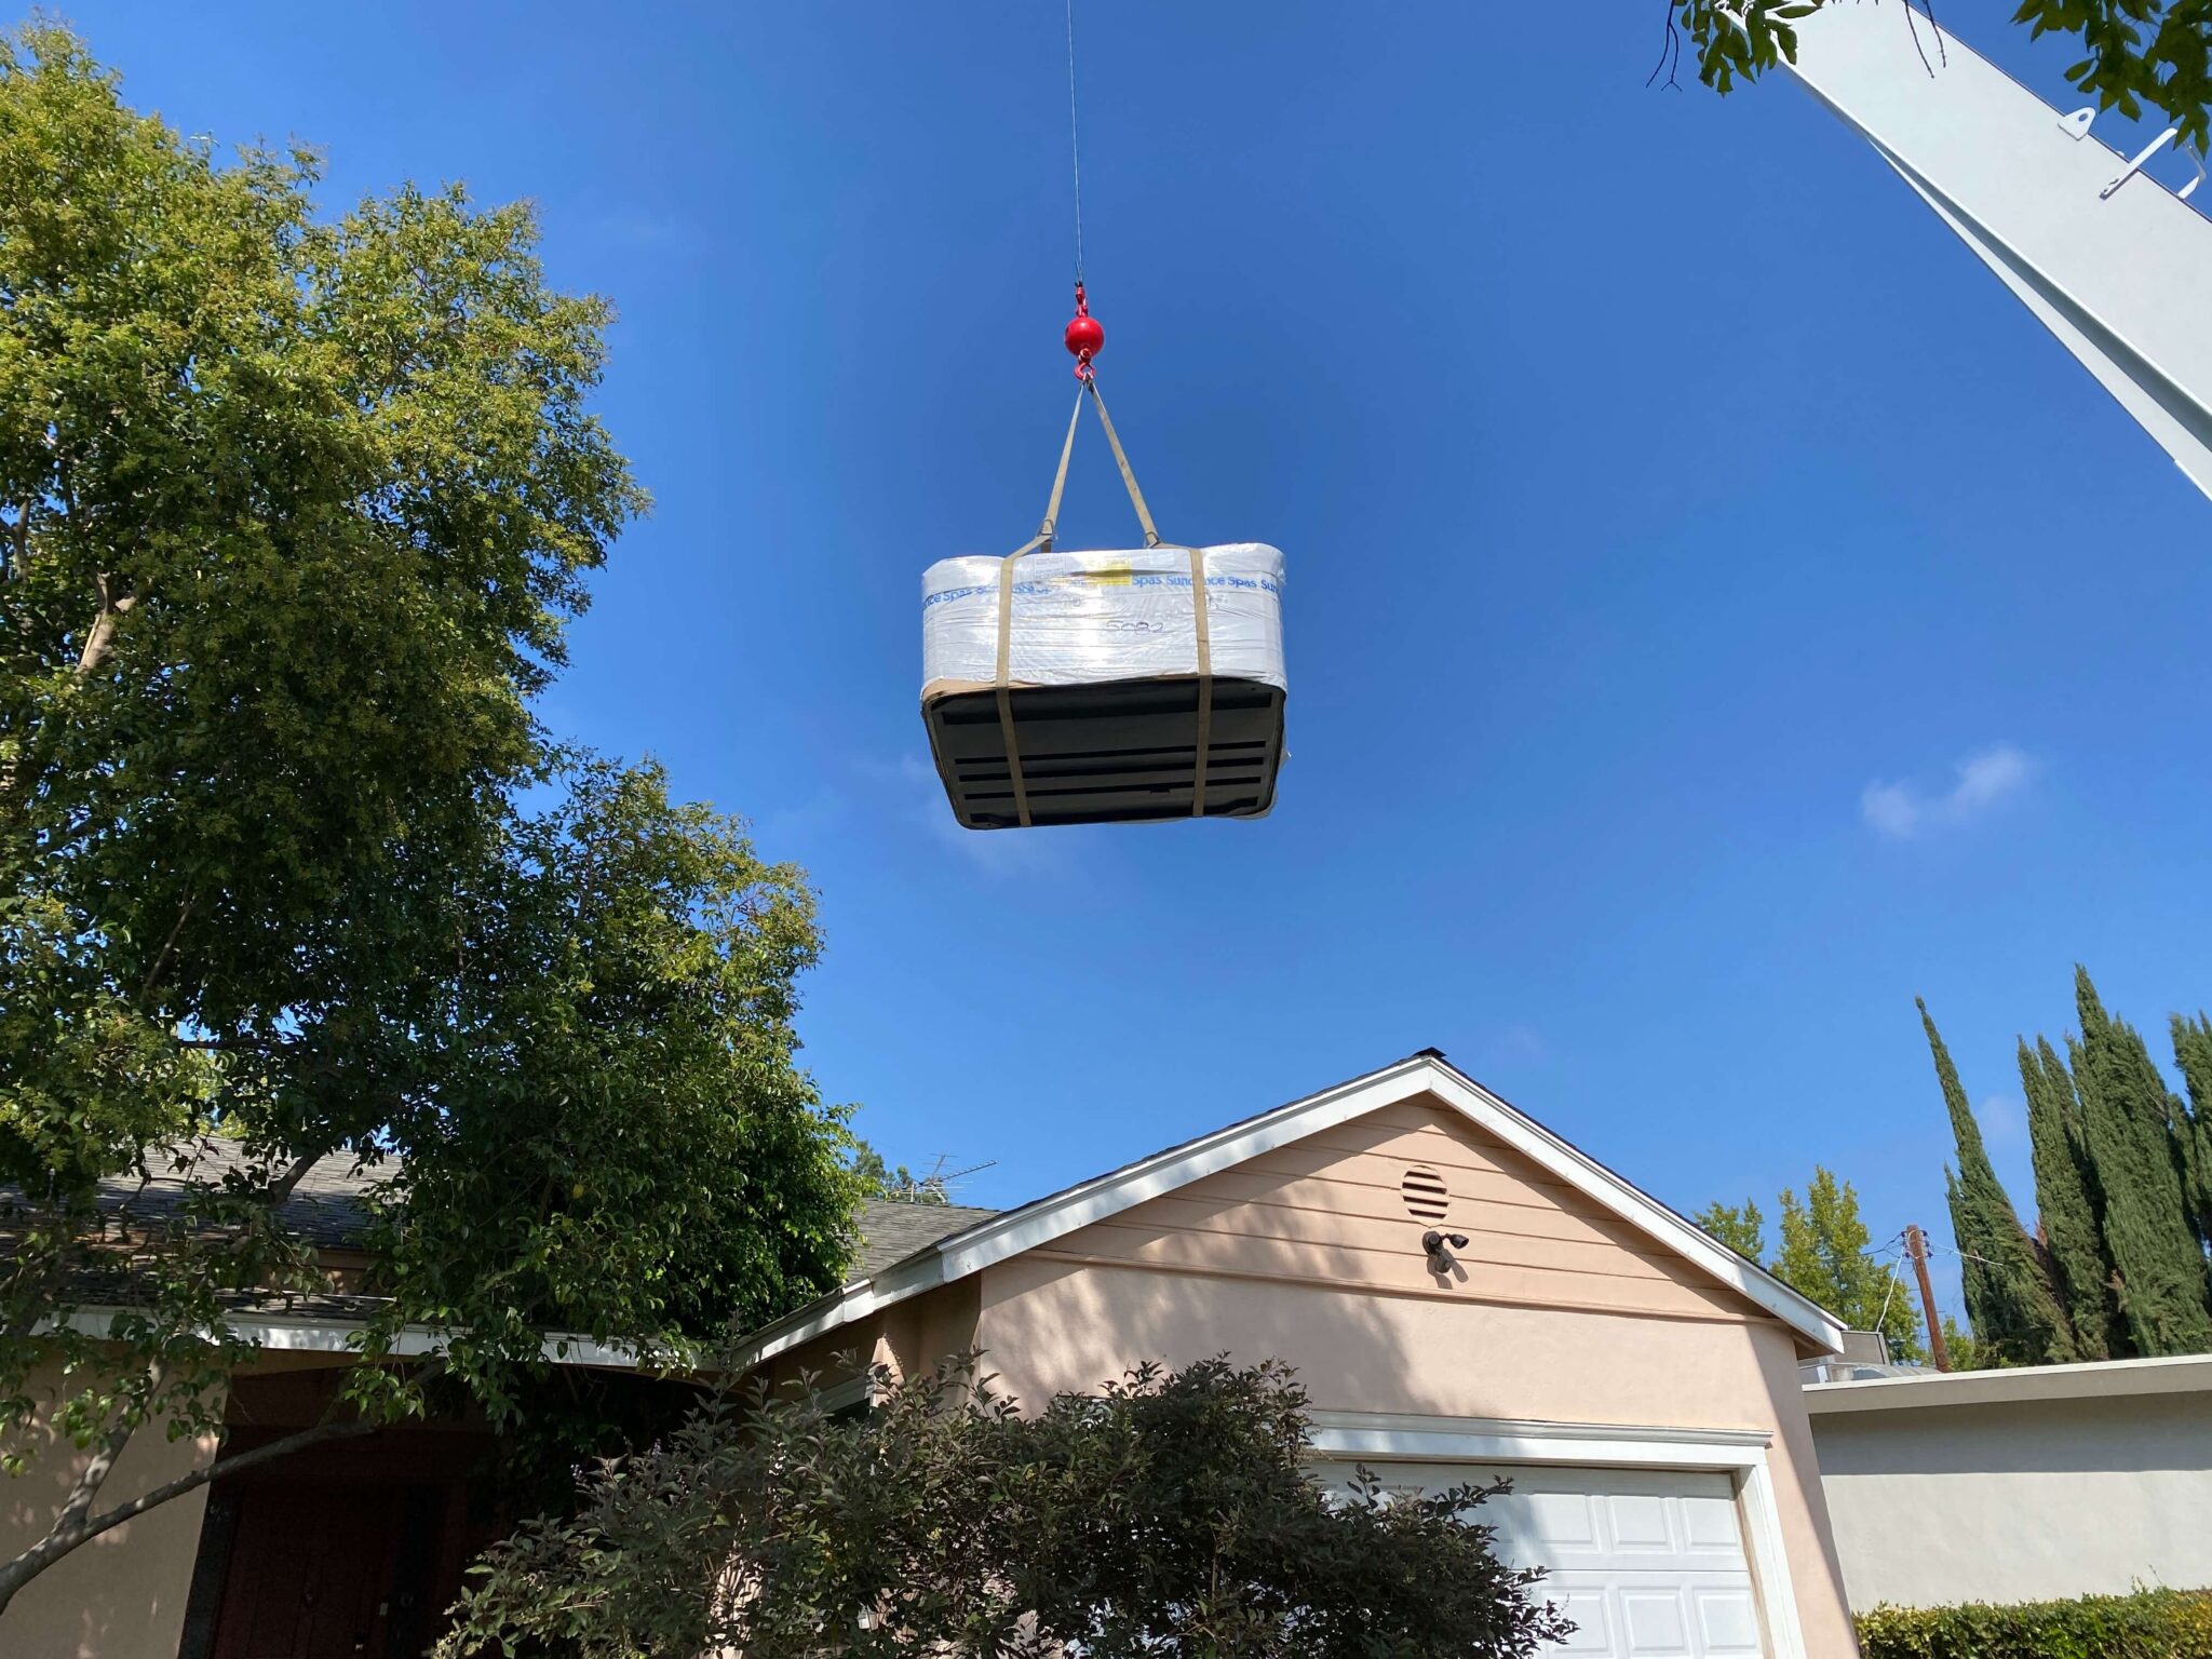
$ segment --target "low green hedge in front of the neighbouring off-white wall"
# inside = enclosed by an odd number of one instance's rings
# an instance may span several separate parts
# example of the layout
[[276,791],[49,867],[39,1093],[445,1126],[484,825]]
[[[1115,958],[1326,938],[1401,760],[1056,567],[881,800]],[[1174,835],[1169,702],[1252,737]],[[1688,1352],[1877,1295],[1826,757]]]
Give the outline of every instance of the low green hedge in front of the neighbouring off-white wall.
[[1858,1615],[1867,1659],[2212,1659],[2212,1590]]

